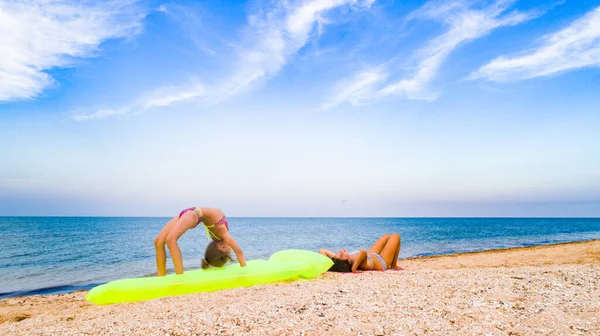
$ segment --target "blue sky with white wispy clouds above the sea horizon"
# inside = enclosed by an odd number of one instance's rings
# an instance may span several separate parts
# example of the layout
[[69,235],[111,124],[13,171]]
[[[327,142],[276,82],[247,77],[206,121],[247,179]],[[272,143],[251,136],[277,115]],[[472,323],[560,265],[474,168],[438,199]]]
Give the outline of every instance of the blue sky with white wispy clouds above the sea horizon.
[[600,217],[600,3],[0,0],[0,215]]

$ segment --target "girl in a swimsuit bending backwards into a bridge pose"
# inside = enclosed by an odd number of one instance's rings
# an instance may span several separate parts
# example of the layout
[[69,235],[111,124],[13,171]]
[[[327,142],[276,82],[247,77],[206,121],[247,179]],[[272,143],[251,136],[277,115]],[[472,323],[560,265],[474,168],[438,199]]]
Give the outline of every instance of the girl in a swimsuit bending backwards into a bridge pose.
[[200,223],[206,229],[206,235],[212,238],[212,241],[206,247],[206,252],[202,259],[202,268],[210,266],[221,267],[225,265],[227,260],[231,259],[229,256],[231,250],[235,253],[240,265],[242,267],[246,266],[244,253],[229,234],[227,218],[221,210],[187,208],[181,211],[179,216],[173,217],[154,239],[158,276],[163,276],[167,273],[167,251],[165,250],[165,245],[169,247],[169,252],[175,265],[175,273],[183,273],[183,260],[177,240],[187,230],[195,228]]

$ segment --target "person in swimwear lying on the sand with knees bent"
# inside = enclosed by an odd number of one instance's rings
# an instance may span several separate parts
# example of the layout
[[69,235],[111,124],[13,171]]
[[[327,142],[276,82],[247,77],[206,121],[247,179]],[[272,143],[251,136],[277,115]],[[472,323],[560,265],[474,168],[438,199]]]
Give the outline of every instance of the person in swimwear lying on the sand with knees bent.
[[348,250],[339,250],[338,253],[333,253],[325,249],[320,249],[319,253],[331,258],[333,266],[331,266],[329,271],[332,272],[402,269],[398,265],[400,235],[397,233],[381,236],[371,246],[369,251],[362,249],[358,253],[349,254]]

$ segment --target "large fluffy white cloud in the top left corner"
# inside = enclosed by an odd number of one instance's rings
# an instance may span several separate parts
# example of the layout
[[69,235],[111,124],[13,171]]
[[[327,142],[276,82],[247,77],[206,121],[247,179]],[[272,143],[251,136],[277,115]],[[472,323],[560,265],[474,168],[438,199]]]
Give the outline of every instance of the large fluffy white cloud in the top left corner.
[[53,84],[45,71],[139,33],[144,16],[133,0],[0,0],[0,101],[36,97]]

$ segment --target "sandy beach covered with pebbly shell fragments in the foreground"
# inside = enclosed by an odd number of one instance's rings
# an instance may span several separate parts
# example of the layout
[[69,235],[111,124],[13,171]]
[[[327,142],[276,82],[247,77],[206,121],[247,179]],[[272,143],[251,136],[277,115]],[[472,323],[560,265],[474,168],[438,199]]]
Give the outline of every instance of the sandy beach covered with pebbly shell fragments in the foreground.
[[14,297],[0,301],[0,334],[600,334],[600,240],[401,265],[110,306],[84,291]]

